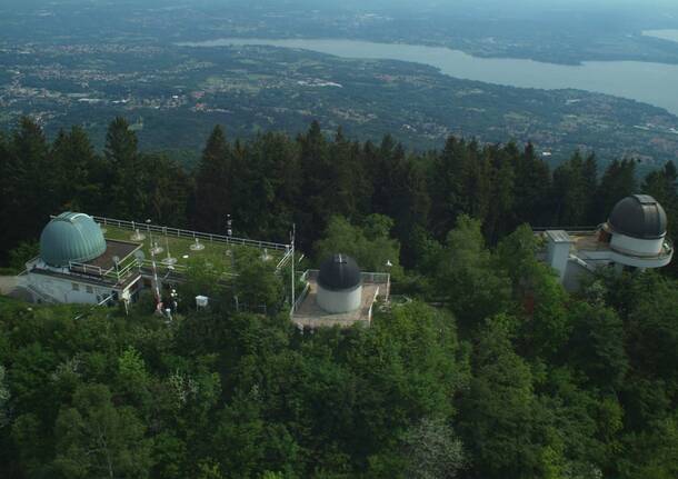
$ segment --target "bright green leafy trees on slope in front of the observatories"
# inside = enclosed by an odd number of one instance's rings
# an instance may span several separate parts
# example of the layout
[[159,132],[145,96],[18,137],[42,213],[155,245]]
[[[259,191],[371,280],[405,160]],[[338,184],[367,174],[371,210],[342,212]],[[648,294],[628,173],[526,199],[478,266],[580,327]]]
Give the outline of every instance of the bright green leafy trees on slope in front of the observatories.
[[599,278],[570,298],[529,229],[479,238],[461,219],[437,253],[445,307],[371,328],[0,300],[0,472],[675,478],[678,285]]

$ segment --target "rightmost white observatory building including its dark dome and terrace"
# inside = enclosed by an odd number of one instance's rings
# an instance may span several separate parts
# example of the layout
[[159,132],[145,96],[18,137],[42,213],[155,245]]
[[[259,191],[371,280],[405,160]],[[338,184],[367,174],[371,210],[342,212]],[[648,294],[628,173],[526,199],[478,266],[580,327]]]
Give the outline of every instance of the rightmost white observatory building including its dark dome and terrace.
[[648,194],[620,200],[608,220],[590,230],[546,230],[545,260],[568,290],[576,290],[582,275],[600,267],[616,271],[667,266],[674,247],[666,238],[666,211]]

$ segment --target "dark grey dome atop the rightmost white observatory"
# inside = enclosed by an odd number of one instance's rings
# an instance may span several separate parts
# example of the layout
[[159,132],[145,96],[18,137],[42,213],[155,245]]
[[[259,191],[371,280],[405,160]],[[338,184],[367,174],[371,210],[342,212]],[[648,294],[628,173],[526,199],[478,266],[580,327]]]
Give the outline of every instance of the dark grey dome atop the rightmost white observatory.
[[637,239],[658,239],[666,234],[666,211],[648,194],[634,194],[612,209],[608,224],[614,232]]

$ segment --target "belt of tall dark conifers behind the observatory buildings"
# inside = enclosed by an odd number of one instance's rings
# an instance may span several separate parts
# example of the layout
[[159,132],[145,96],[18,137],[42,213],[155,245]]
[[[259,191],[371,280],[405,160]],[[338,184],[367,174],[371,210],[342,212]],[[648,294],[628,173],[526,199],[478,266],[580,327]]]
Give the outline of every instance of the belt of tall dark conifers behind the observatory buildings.
[[[134,131],[113,120],[102,153],[80,127],[50,142],[24,118],[0,132],[0,261],[34,240],[49,214],[63,210],[289,240],[293,223],[309,251],[333,217],[363,224],[370,214],[393,221],[402,263],[415,267],[429,241],[445,241],[460,214],[482,224],[489,245],[518,226],[581,227],[607,219],[627,194],[652,194],[678,224],[678,173],[672,162],[638,178],[632,160],[599,171],[595,154],[571,158],[550,171],[531,144],[479,144],[450,137],[440,151],[410,153],[390,136],[380,143],[322,134],[269,132],[229,141],[216,127],[195,171],[162,153],[138,148]],[[310,252],[310,251],[309,251]]]

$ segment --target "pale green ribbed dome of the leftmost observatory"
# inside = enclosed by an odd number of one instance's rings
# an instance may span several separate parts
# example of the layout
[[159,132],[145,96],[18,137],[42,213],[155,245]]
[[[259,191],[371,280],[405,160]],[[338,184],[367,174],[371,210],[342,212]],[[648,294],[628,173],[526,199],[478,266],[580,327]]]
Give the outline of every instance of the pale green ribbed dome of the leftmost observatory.
[[52,267],[90,261],[104,252],[101,228],[84,213],[61,213],[52,218],[40,236],[40,258]]

